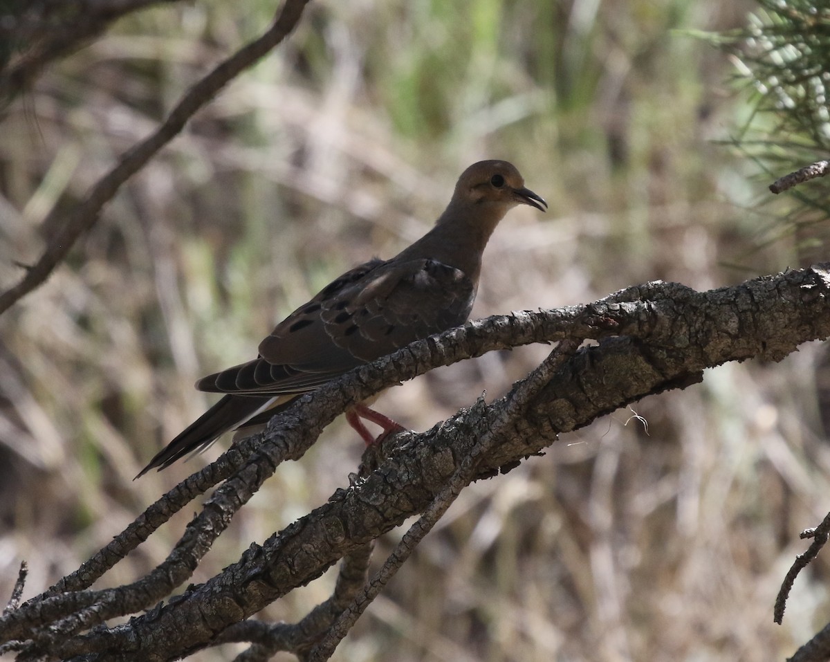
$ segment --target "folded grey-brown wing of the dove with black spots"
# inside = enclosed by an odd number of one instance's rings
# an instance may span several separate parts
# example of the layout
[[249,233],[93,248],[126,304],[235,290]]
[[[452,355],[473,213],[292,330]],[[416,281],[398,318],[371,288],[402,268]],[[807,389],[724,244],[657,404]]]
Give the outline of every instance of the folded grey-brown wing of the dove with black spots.
[[313,390],[362,363],[463,324],[476,295],[436,260],[372,260],[334,280],[260,343],[260,356],[197,382],[203,391],[276,396]]

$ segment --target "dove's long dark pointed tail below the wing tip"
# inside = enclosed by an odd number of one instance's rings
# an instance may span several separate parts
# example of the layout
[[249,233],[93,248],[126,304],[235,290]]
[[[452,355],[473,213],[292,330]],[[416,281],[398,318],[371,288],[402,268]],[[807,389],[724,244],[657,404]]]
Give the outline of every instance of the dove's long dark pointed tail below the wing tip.
[[196,450],[204,450],[223,432],[242,426],[251,416],[256,416],[274,397],[225,396],[181,431],[173,441],[149,461],[135,478],[149,470],[159,471],[172,465],[179,458]]

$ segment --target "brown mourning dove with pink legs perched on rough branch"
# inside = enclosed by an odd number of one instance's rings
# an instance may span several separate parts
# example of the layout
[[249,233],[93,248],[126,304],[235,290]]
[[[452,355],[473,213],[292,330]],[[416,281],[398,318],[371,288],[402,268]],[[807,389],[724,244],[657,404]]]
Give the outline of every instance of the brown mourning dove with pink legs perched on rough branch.
[[[471,165],[426,235],[391,260],[374,258],[339,276],[277,324],[253,361],[200,379],[199,390],[227,395],[136,478],[204,450],[224,432],[252,434],[302,393],[414,340],[464,324],[487,240],[505,213],[520,204],[543,212],[547,207],[510,163]],[[374,437],[361,418],[384,431],[400,428],[364,404],[352,406],[346,416],[368,444]]]

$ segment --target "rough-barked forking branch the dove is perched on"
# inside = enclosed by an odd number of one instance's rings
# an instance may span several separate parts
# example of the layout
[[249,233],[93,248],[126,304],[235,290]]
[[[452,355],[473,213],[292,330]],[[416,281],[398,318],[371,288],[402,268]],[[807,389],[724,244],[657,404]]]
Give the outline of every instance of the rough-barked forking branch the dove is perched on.
[[[0,618],[0,644],[9,642],[7,650],[20,650],[27,659],[82,656],[99,662],[172,660],[222,641],[244,639],[254,645],[243,659],[264,660],[273,650],[294,650],[305,658],[304,651],[320,644],[318,633],[330,629],[332,638],[315,654],[325,659],[342,635],[339,625],[331,624],[338,619],[346,626],[353,622],[355,613],[398,567],[398,552],[404,556],[411,552],[459,484],[510,470],[544,450],[559,432],[588,425],[648,394],[699,382],[704,368],[752,357],[779,360],[799,343],[826,338],[830,335],[828,268],[818,265],[703,293],[682,285],[651,283],[595,304],[499,316],[413,343],[305,396],[272,420],[265,433],[239,441],[214,465],[188,479],[193,481],[191,487],[182,493],[173,490],[178,500],[171,512],[181,508],[184,494],[198,494],[211,481],[227,476],[188,527],[177,551],[164,562],[164,572],[157,568],[130,587],[79,590],[88,586],[90,577],[100,577],[111,567],[112,558],[123,556],[124,549],[116,545],[98,555],[105,561],[88,577],[76,575],[67,582],[74,591],[52,589]],[[430,431],[388,438],[370,449],[363,472],[349,489],[338,490],[328,503],[266,543],[251,545],[236,563],[203,586],[188,587],[168,604],[159,602],[122,625],[100,625],[115,616],[139,613],[159,595],[168,595],[174,583],[186,582],[200,554],[215,539],[202,528],[227,527],[232,514],[276,465],[302,455],[322,426],[349,403],[393,382],[493,348],[582,338],[601,342],[577,353],[570,353],[568,347],[559,349],[529,381],[520,382],[491,405],[479,401]],[[152,526],[168,517],[163,502],[153,507]],[[323,616],[314,620],[313,627],[306,619],[292,626],[295,630],[243,625],[339,559],[362,558],[359,555],[375,538],[422,513],[427,516],[390,557],[382,574],[365,587],[355,589],[350,582],[347,590],[335,593],[320,606]],[[133,535],[130,548],[140,542],[138,533]],[[354,558],[350,562],[364,572],[364,562]],[[306,625],[311,634],[304,639],[298,633]]]

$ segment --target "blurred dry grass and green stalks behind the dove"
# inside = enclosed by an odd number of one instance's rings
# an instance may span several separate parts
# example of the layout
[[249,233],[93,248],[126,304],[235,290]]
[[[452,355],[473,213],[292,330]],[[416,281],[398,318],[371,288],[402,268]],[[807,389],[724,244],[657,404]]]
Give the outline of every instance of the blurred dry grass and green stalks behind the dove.
[[[427,231],[478,159],[515,163],[550,208],[516,209],[497,229],[474,317],[648,280],[709,289],[814,260],[766,189],[788,170],[764,174],[734,146],[757,119],[740,68],[698,34],[744,27],[758,10],[750,0],[310,3],[298,30],[0,317],[0,602],[22,559],[31,597],[226,448],[132,482],[212,402],[193,389],[198,377],[251,358],[334,276]],[[15,261],[41,254],[51,207],[82,197],[275,11],[263,0],[163,3],[13,100],[0,124],[4,287],[20,275]],[[499,397],[547,351],[436,370],[378,408],[427,429],[481,392]],[[807,548],[798,533],[830,509],[826,355],[812,343],[782,363],[706,371],[472,485],[335,659],[792,655],[830,619],[826,555],[798,578],[784,625],[772,616]],[[324,503],[362,450],[336,421],[242,509],[193,582]],[[163,560],[186,510],[98,586]],[[379,541],[376,562],[401,533]],[[300,618],[332,581],[261,617]]]

